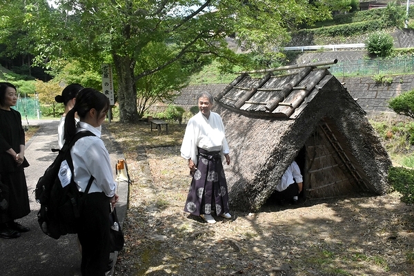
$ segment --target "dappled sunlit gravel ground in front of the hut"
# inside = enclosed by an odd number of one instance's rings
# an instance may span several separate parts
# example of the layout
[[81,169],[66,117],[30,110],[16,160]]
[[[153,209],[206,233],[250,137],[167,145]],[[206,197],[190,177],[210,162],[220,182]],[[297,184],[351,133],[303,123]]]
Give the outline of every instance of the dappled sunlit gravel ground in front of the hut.
[[190,176],[179,142],[131,151],[145,142],[117,140],[132,184],[115,275],[414,275],[414,209],[398,193],[268,202],[212,225],[183,211]]

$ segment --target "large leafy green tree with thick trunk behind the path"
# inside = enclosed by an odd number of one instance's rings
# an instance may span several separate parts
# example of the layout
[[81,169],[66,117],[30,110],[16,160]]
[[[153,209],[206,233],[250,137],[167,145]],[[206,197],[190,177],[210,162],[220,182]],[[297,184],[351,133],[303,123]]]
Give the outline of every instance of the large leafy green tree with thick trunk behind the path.
[[[148,86],[144,83],[151,79],[152,87],[159,83],[150,76],[162,79],[164,74],[177,72],[179,77],[168,77],[175,85],[164,85],[175,89],[180,82],[185,84],[184,73],[190,76],[213,59],[246,65],[245,56],[228,48],[226,37],[233,37],[247,52],[273,52],[290,39],[291,30],[330,18],[331,9],[338,5],[335,0],[55,2],[57,8],[50,8],[46,0],[0,0],[8,5],[1,19],[10,31],[18,23],[25,26],[21,29],[24,43],[36,54],[37,64],[59,70],[77,60],[97,72],[101,63],[112,64],[124,122],[142,116],[137,112],[137,97],[145,98],[142,93],[148,92]],[[18,23],[8,20],[7,13]],[[12,33],[17,34],[17,29]]]

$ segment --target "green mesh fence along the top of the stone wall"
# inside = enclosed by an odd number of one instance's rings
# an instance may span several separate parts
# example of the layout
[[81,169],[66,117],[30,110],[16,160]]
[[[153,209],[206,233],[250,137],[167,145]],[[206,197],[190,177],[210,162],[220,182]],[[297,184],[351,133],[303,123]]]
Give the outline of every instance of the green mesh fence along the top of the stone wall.
[[354,63],[331,65],[329,72],[334,76],[375,76],[389,74],[410,74],[414,72],[414,56],[410,59],[360,60]]

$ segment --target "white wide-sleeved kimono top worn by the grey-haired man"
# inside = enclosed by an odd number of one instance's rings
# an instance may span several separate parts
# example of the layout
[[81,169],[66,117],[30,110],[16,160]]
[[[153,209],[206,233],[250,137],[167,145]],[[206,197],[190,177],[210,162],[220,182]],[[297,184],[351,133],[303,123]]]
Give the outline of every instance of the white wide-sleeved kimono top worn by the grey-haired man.
[[201,112],[190,118],[186,133],[181,144],[181,156],[191,158],[197,166],[197,147],[206,151],[221,151],[221,160],[226,160],[224,154],[229,153],[223,121],[219,114],[210,112],[207,119]]

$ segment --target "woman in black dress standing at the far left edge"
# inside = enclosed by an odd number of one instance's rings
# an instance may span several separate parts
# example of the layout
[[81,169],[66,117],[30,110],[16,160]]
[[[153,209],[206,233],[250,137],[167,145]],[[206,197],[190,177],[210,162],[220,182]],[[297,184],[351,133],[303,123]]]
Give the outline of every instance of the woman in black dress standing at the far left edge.
[[0,211],[0,237],[20,237],[30,228],[14,220],[30,213],[28,187],[23,168],[29,163],[24,158],[24,130],[21,115],[10,108],[16,105],[16,87],[0,83],[0,180],[9,189],[8,208]]

